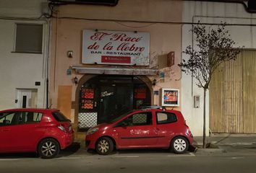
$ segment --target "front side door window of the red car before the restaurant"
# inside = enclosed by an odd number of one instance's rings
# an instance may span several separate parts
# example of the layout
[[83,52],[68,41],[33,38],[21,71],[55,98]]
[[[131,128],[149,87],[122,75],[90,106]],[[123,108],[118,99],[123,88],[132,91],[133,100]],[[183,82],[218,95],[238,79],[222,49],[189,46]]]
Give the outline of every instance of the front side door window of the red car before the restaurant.
[[152,114],[151,112],[141,112],[127,117],[121,123],[127,124],[127,126],[134,125],[152,125]]

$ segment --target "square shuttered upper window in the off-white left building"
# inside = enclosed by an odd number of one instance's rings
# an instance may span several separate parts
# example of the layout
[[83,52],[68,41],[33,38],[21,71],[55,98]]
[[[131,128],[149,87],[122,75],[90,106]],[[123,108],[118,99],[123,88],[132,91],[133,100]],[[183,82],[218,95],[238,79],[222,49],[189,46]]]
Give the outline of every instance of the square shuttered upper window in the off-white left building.
[[15,52],[42,53],[43,25],[16,24]]

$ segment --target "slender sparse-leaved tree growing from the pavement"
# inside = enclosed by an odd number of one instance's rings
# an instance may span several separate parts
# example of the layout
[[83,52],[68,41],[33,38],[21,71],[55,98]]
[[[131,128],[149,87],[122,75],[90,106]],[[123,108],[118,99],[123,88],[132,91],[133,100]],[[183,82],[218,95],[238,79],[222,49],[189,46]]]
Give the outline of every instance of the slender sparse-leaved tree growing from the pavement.
[[192,33],[195,35],[195,48],[192,45],[187,46],[183,53],[189,55],[189,59],[183,59],[179,66],[186,74],[195,77],[197,86],[204,89],[202,147],[205,148],[205,98],[210,79],[221,63],[235,60],[240,49],[233,48],[235,42],[223,23],[217,27],[206,28],[198,22],[192,28]]

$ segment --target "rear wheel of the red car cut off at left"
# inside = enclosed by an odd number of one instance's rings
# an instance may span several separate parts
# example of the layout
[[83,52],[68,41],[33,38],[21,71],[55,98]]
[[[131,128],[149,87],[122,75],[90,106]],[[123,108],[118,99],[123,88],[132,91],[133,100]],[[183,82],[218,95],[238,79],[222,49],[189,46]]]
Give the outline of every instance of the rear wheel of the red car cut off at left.
[[43,159],[51,159],[59,154],[59,143],[53,138],[46,138],[38,146],[38,154]]

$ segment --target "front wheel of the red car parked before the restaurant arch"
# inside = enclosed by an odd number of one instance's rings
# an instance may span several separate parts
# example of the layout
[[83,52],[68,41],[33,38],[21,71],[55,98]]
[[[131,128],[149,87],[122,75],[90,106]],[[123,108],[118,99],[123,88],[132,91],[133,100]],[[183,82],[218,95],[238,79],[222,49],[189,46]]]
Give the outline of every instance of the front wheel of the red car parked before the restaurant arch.
[[98,154],[107,155],[114,149],[114,144],[111,138],[102,137],[96,143],[96,151]]

